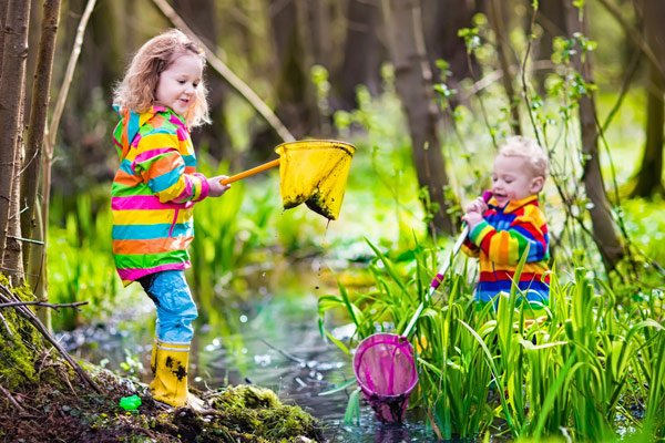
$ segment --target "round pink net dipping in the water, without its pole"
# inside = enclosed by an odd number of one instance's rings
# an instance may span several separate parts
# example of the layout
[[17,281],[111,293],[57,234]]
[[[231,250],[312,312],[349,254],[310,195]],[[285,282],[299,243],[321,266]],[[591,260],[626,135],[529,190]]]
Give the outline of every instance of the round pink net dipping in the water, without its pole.
[[406,337],[375,333],[360,342],[354,371],[362,394],[385,423],[401,423],[418,383],[413,347]]

